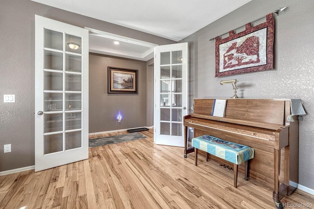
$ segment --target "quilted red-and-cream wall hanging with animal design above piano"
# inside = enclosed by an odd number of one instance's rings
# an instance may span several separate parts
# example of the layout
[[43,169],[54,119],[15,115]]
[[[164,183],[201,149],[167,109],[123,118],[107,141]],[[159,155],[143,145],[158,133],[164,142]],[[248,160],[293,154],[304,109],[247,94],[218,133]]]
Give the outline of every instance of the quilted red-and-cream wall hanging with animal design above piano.
[[273,69],[274,19],[273,14],[266,15],[266,22],[229,37],[216,37],[215,77]]

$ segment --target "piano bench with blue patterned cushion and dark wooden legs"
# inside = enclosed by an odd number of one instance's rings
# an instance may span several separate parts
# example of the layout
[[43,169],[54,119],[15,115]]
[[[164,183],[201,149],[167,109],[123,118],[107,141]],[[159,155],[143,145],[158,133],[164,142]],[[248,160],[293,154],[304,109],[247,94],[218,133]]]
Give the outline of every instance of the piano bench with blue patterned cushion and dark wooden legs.
[[209,135],[204,135],[192,139],[192,146],[195,151],[195,165],[197,165],[197,151],[198,149],[207,152],[206,161],[208,161],[208,154],[224,159],[234,163],[234,186],[237,186],[237,171],[238,165],[245,163],[244,179],[248,179],[249,160],[254,158],[254,149],[252,147],[226,141]]

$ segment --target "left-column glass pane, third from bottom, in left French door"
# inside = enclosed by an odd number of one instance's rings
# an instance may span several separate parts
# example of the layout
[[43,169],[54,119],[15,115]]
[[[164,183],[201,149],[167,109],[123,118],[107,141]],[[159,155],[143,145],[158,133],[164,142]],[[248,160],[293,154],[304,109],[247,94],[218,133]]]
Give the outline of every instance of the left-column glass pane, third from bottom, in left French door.
[[63,110],[63,98],[62,93],[44,93],[45,106],[44,111],[62,111]]

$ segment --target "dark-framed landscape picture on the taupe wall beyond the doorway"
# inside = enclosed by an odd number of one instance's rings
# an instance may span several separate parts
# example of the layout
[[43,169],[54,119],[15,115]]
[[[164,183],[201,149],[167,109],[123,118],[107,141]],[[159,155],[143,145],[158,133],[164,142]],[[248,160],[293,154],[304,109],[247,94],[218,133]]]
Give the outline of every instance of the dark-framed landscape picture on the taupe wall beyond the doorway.
[[137,71],[108,67],[108,93],[138,93]]

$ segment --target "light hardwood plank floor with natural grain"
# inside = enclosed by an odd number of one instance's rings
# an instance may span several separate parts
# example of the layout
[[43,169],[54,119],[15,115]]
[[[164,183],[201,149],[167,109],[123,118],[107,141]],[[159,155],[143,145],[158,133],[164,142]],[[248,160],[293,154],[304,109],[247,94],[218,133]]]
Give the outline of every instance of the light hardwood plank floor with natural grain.
[[[88,160],[0,176],[0,209],[275,209],[271,188],[243,173],[235,188],[232,170],[202,156],[195,166],[194,153],[185,159],[181,147],[154,144],[152,130],[140,133],[147,138],[89,148]],[[314,207],[299,189],[282,201]]]

